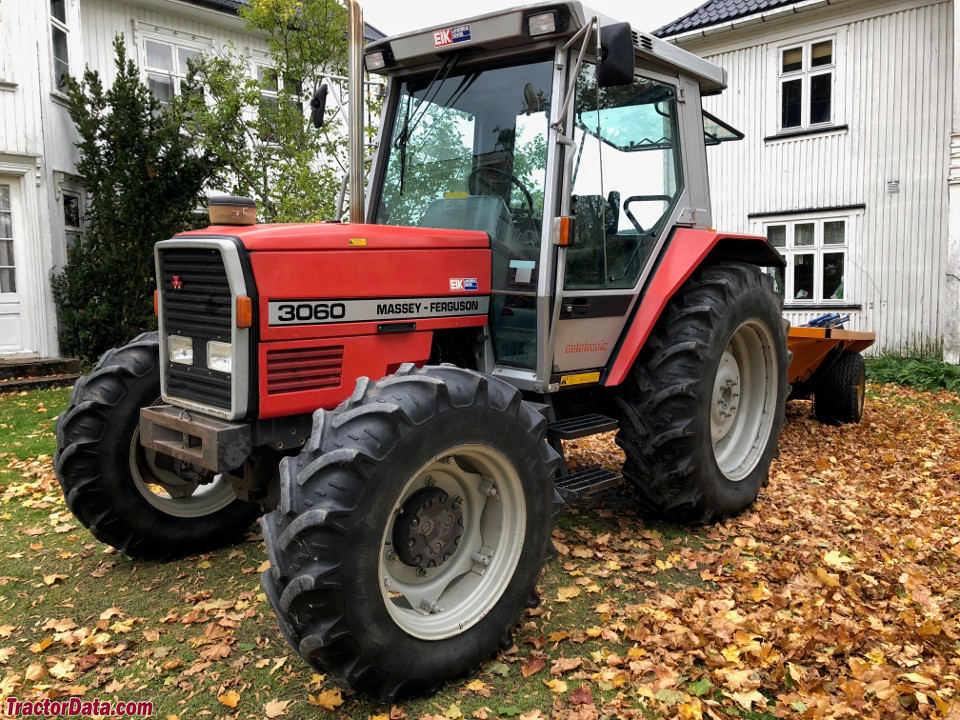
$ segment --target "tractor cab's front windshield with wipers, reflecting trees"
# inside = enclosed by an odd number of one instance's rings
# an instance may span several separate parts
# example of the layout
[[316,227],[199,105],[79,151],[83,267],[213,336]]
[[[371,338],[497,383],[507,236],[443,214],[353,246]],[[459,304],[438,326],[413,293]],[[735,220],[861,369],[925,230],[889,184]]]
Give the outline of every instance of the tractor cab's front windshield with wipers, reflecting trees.
[[553,63],[454,62],[401,84],[376,222],[481,230],[538,254]]

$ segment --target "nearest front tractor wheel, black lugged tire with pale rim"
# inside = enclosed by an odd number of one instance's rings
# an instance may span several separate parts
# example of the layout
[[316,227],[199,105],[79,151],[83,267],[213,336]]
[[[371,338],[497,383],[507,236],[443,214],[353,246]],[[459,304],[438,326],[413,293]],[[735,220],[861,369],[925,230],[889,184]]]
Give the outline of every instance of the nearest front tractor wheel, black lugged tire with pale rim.
[[280,465],[261,582],[314,668],[391,702],[510,646],[555,554],[560,459],[500,380],[404,365],[318,410]]

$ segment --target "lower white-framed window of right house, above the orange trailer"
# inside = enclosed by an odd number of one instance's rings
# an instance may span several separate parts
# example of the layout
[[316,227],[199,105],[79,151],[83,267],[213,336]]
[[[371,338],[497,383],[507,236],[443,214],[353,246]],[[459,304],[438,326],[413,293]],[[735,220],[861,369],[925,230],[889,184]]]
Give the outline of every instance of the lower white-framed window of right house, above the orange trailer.
[[776,222],[766,226],[767,239],[786,258],[777,270],[777,291],[788,304],[848,303],[846,293],[847,218]]

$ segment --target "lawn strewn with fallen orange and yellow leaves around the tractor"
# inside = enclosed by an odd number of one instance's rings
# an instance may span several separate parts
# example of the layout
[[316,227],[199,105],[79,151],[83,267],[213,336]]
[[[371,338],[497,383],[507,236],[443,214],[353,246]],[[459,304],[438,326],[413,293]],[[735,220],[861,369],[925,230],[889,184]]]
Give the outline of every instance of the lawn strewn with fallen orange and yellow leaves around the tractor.
[[[51,468],[65,401],[0,396],[4,709],[71,696],[183,720],[960,718],[956,395],[870,386],[863,423],[838,428],[791,403],[770,486],[719,526],[644,523],[629,496],[571,509],[516,645],[394,707],[291,653],[259,588],[256,527],[167,564],[80,527]],[[34,437],[16,446],[27,413]],[[610,435],[568,449],[575,465],[620,461]]]

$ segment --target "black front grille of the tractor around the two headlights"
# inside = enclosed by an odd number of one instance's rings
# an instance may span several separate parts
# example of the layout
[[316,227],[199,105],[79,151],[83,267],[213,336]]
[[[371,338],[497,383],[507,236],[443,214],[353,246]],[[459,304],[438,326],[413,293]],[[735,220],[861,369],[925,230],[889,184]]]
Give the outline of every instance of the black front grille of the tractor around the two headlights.
[[207,369],[207,342],[231,342],[233,295],[223,257],[215,248],[163,248],[159,258],[163,328],[193,340],[193,365],[164,358],[166,393],[230,410],[230,374]]

